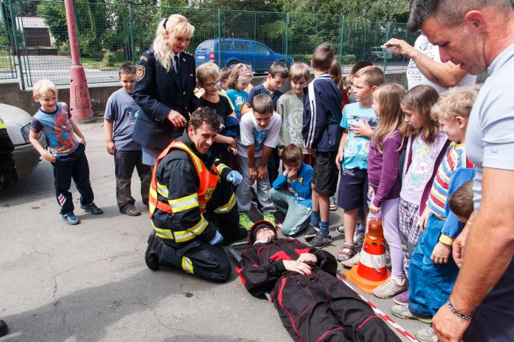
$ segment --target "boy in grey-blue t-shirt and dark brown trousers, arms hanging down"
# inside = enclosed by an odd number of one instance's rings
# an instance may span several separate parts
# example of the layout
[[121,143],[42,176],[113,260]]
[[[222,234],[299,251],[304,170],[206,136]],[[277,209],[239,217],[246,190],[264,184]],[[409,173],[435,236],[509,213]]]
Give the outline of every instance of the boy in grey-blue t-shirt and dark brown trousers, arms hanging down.
[[136,200],[130,192],[130,180],[134,168],[141,180],[141,198],[146,206],[148,206],[151,180],[150,167],[143,164],[141,146],[132,140],[136,118],[141,112],[131,96],[135,79],[136,67],[134,65],[125,63],[119,67],[118,80],[122,88],[109,96],[106,113],[103,115],[107,152],[114,155],[116,200],[119,211],[129,216],[140,215],[140,211],[134,206]]

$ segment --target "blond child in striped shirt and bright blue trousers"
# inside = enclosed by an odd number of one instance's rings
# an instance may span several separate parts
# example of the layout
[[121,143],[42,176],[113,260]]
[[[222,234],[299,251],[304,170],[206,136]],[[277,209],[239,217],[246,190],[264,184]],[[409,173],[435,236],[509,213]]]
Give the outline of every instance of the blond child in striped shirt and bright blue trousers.
[[472,88],[452,88],[432,107],[432,118],[439,121],[439,129],[452,143],[437,170],[426,209],[419,218],[419,226],[424,227],[424,231],[408,271],[410,303],[391,308],[398,317],[422,320],[435,315],[448,300],[456,280],[458,267],[452,258],[452,242],[461,233],[463,224],[446,207],[448,197],[473,179],[475,173],[466,157],[465,135],[476,93]]

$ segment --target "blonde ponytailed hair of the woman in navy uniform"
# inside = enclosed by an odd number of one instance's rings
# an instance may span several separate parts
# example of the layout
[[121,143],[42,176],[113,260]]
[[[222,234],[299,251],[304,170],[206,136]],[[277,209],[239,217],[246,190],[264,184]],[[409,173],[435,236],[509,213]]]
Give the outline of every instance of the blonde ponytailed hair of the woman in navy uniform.
[[166,38],[166,30],[168,30],[169,34],[189,36],[189,38],[191,38],[195,33],[195,27],[181,14],[171,14],[171,16],[162,19],[158,23],[156,38],[154,39],[152,48],[154,49],[156,60],[169,71],[173,62],[171,61],[171,48]]

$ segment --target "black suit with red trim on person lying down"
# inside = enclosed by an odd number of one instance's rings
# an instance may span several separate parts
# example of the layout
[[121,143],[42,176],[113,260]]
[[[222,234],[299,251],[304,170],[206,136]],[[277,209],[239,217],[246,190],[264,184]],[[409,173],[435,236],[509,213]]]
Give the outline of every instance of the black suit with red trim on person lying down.
[[[312,274],[289,272],[283,260],[312,253]],[[335,277],[332,254],[294,239],[255,244],[241,254],[236,272],[249,293],[269,292],[295,341],[400,341],[371,307]]]

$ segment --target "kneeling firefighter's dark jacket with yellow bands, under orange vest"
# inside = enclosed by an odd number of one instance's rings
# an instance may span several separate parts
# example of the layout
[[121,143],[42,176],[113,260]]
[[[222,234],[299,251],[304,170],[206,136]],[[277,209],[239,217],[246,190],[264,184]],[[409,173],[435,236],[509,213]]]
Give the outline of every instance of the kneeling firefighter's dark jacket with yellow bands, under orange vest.
[[[195,145],[187,135],[186,131],[177,141],[184,142],[192,151],[204,162],[206,168],[212,172],[212,166],[215,165],[217,172],[221,177],[221,181],[226,181],[228,173],[232,170],[215,159],[210,153],[201,155],[197,152]],[[160,161],[156,169],[156,177],[158,186],[164,185],[167,188],[168,196],[163,198],[162,194],[158,194],[158,200],[162,202],[170,202],[187,198],[193,194],[197,194],[199,187],[199,177],[197,175],[193,160],[184,150],[171,150],[171,152]],[[174,212],[173,214],[156,209],[152,217],[152,223],[157,229],[169,229],[173,232],[177,239],[162,239],[164,243],[173,247],[186,246],[195,239],[203,241],[211,241],[217,231],[217,227],[204,218],[200,213],[198,205],[188,209]],[[193,236],[184,241],[178,241],[179,236],[184,236],[187,232],[194,231]],[[182,235],[180,235],[182,233]]]

